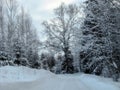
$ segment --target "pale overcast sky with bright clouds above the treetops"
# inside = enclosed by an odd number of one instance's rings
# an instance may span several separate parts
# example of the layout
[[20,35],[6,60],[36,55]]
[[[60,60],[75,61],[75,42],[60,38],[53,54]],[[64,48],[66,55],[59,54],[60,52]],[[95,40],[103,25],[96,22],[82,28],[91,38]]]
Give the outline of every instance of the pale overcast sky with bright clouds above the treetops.
[[18,0],[26,11],[29,12],[33,19],[33,23],[38,30],[38,33],[42,33],[41,22],[48,20],[53,16],[53,10],[57,8],[62,2],[65,4],[80,3],[84,0]]

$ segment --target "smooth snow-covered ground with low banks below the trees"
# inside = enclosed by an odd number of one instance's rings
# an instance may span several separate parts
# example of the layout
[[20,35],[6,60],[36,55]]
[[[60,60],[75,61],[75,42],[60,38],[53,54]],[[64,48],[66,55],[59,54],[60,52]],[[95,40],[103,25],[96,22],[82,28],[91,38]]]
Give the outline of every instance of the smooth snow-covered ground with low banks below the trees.
[[27,67],[0,68],[0,90],[120,90],[120,82],[94,75],[55,75]]

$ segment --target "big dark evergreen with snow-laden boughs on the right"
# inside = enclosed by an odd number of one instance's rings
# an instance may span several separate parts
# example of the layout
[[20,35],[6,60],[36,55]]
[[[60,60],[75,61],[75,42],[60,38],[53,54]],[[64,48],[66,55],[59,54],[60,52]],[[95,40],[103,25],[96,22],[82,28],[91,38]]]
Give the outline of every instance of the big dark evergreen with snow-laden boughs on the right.
[[114,42],[118,39],[113,33],[118,33],[119,29],[116,27],[119,23],[116,22],[117,14],[113,3],[113,0],[86,1],[86,17],[82,31],[83,50],[80,52],[81,69],[86,73],[100,75],[106,66],[109,70],[108,75],[112,76],[114,73],[111,72],[118,72],[115,66],[116,59],[113,59],[113,51],[116,47]]

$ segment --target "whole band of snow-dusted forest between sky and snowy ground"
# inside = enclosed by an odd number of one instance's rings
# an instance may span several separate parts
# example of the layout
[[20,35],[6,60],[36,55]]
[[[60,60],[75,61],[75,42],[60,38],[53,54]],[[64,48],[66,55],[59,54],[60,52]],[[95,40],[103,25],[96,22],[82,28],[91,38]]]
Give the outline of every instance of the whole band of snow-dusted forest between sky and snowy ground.
[[41,24],[40,41],[29,13],[15,0],[0,0],[0,67],[27,66],[56,74],[83,72],[120,77],[120,0],[62,3]]

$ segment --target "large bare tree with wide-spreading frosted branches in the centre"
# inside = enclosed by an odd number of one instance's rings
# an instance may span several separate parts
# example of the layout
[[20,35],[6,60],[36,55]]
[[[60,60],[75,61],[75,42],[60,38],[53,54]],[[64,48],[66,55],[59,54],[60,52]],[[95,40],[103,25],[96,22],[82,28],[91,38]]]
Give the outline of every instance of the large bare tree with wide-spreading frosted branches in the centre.
[[55,16],[53,20],[43,23],[48,35],[47,44],[53,49],[63,51],[67,60],[70,58],[71,42],[80,24],[80,8],[77,5],[62,4],[55,9]]

